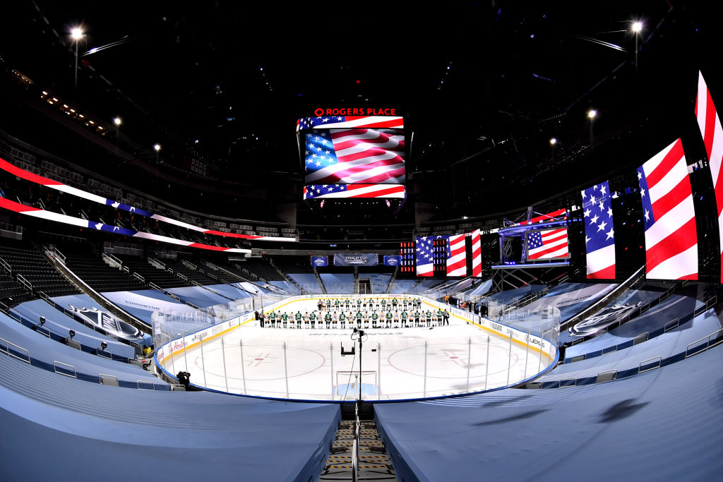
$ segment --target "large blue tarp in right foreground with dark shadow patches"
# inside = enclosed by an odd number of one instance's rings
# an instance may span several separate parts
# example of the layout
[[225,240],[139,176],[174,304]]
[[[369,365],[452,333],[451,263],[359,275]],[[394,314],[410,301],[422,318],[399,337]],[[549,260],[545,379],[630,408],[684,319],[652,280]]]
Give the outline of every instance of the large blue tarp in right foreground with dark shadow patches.
[[723,471],[723,346],[559,390],[375,406],[404,481],[712,481]]

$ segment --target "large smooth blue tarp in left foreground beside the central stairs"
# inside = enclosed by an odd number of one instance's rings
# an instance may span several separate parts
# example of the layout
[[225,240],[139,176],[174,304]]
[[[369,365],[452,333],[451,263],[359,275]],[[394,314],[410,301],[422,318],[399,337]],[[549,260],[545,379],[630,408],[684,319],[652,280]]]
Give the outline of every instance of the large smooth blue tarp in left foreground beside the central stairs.
[[124,390],[0,353],[1,478],[315,481],[338,405]]

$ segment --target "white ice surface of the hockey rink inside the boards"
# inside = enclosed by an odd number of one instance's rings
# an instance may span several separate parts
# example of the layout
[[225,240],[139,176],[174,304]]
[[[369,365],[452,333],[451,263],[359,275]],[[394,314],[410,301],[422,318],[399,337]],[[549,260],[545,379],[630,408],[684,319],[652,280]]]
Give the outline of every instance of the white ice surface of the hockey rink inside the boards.
[[[316,301],[289,301],[281,312],[316,310]],[[433,310],[422,304],[420,311]],[[364,310],[362,309],[362,312]],[[400,310],[401,311],[401,310]],[[364,329],[359,343],[346,327],[315,330],[260,327],[250,321],[164,362],[213,390],[299,400],[403,400],[489,390],[529,379],[551,361],[539,350],[450,316],[449,326]],[[384,323],[378,323],[384,325]],[[303,325],[303,324],[302,324]],[[268,326],[268,323],[267,323]],[[341,347],[355,355],[341,355]],[[361,384],[356,376],[361,358]]]

